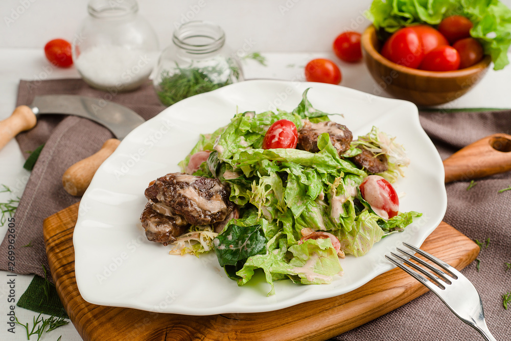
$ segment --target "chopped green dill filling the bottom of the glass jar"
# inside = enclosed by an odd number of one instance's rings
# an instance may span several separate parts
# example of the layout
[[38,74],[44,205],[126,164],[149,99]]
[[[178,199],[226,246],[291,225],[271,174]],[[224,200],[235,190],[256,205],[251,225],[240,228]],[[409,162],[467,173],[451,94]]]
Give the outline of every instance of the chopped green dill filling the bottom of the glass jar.
[[162,104],[170,106],[190,96],[231,84],[233,78],[240,78],[240,70],[236,66],[226,70],[217,66],[184,68],[176,65],[172,74],[169,71],[161,73],[157,94]]

